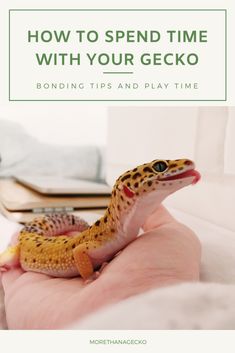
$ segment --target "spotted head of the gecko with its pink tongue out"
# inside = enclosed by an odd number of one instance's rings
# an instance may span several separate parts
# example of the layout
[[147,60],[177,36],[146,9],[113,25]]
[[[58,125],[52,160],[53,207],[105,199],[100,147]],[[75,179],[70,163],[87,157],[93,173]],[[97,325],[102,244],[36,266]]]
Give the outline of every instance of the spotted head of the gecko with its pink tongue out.
[[167,195],[200,180],[195,164],[189,159],[156,159],[130,170],[118,179],[126,198],[161,191]]

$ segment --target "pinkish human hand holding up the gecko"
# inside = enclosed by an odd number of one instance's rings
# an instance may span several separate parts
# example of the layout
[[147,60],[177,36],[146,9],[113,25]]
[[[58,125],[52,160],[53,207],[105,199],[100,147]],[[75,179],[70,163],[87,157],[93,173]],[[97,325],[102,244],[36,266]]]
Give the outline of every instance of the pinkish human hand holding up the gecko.
[[89,285],[80,277],[51,278],[21,269],[2,274],[9,328],[63,328],[101,307],[152,288],[199,280],[201,248],[189,228],[160,206],[143,229],[144,234]]

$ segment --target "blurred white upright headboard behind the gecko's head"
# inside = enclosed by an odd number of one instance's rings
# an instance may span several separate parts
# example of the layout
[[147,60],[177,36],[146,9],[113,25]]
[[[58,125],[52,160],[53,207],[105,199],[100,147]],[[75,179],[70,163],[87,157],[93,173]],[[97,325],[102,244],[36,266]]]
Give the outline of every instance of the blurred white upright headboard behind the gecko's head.
[[235,107],[110,107],[107,181],[156,158],[192,158],[202,181],[166,205],[235,231]]

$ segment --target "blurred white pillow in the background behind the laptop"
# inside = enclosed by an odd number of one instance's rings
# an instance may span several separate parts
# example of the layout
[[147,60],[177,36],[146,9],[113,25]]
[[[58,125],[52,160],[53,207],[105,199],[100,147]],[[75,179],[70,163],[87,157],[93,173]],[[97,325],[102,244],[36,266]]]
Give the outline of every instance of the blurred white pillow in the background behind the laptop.
[[21,125],[0,119],[0,177],[57,175],[101,179],[101,150],[96,146],[41,143]]

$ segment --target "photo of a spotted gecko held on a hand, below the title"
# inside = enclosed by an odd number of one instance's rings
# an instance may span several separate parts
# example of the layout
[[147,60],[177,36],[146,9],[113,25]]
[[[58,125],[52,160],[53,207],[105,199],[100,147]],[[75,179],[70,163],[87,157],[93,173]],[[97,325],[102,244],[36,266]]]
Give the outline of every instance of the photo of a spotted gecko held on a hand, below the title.
[[234,107],[40,109],[0,119],[0,328],[234,328]]

